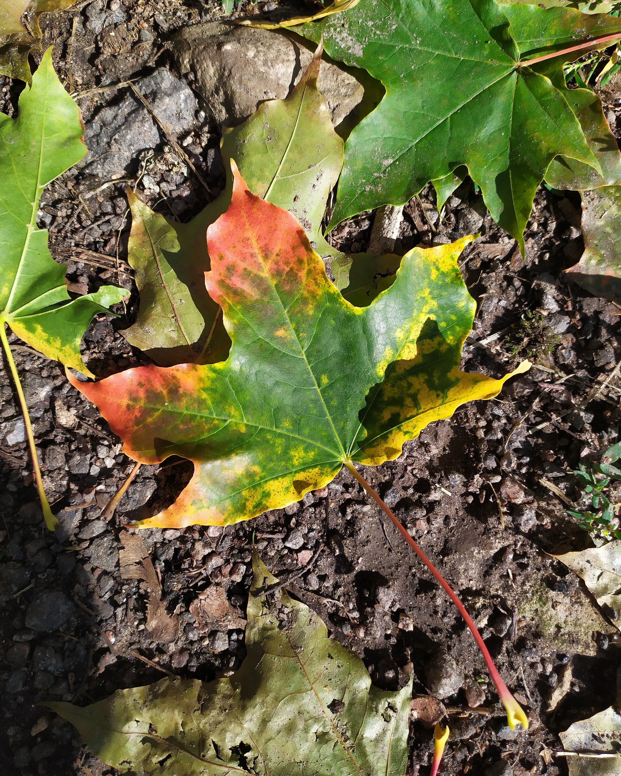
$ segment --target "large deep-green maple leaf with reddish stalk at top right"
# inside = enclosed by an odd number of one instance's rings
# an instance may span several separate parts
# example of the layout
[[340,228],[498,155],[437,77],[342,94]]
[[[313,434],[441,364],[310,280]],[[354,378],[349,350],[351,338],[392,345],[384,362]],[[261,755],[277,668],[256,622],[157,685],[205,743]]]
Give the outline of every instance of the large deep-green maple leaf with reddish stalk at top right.
[[[552,16],[550,16],[552,15]],[[553,29],[539,53],[621,29],[621,20],[494,0],[361,0],[350,12],[295,27],[327,53],[365,68],[386,95],[353,130],[331,226],[403,204],[465,165],[497,223],[523,246],[536,188],[557,156],[600,172],[562,78],[563,57],[529,68],[523,25]],[[536,25],[535,25],[536,26]],[[542,70],[542,72],[539,72]],[[564,81],[563,81],[564,84]]]

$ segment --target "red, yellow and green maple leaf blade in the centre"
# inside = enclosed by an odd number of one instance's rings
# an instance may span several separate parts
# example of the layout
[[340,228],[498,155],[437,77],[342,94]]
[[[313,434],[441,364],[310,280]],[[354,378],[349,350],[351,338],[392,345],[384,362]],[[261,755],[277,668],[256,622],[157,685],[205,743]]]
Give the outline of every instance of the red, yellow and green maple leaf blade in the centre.
[[457,258],[471,237],[415,248],[389,289],[353,307],[293,216],[234,175],[231,206],[207,230],[206,285],[233,343],[227,361],[72,379],[129,456],[195,464],[175,504],[141,527],[224,525],[300,501],[345,462],[396,458],[425,425],[495,396],[506,379],[459,369],[476,306]]

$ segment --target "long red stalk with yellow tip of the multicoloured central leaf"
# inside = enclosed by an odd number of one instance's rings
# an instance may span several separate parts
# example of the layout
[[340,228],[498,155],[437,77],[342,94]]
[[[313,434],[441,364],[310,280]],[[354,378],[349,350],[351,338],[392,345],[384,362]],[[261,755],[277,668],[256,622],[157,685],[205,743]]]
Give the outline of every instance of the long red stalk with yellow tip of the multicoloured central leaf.
[[423,553],[422,549],[418,546],[418,544],[414,541],[414,539],[411,538],[411,535],[409,535],[408,532],[405,530],[404,526],[401,525],[401,522],[395,517],[393,511],[390,510],[387,504],[385,504],[383,500],[380,498],[379,494],[377,494],[376,491],[373,490],[373,488],[369,485],[369,483],[366,482],[363,476],[360,475],[360,473],[356,469],[356,466],[354,466],[351,461],[345,461],[345,466],[347,466],[352,476],[356,477],[356,480],[358,480],[358,482],[363,486],[363,488],[366,490],[369,496],[373,497],[374,501],[376,501],[376,503],[379,504],[379,506],[383,509],[383,511],[386,512],[390,520],[393,521],[395,527],[401,532],[401,535],[403,535],[406,542],[408,542],[408,544],[415,551],[415,553],[422,560],[422,562],[425,563],[425,566],[427,566],[428,570],[431,571],[435,579],[438,580],[439,584],[442,586],[442,589],[446,592],[446,594],[449,596],[451,601],[453,601],[453,604],[456,605],[458,611],[460,612],[460,615],[463,617],[464,622],[466,622],[466,625],[468,626],[468,628],[470,629],[470,632],[474,636],[474,640],[477,642],[477,646],[480,650],[480,653],[483,655],[483,659],[485,660],[485,665],[487,666],[487,670],[489,671],[491,681],[494,682],[494,686],[498,691],[498,695],[500,696],[502,704],[505,706],[505,709],[507,710],[508,726],[513,730],[515,729],[515,725],[519,723],[522,726],[522,728],[526,730],[529,726],[529,721],[526,718],[526,714],[524,713],[524,710],[519,705],[519,703],[515,700],[515,698],[509,691],[507,685],[505,684],[505,682],[502,681],[501,675],[498,674],[498,669],[495,667],[494,660],[491,659],[491,655],[487,651],[487,646],[485,646],[485,642],[481,637],[477,629],[477,626],[474,625],[472,618],[466,611],[466,607],[462,604],[460,599],[457,598],[456,594],[453,592],[453,588],[450,587],[449,583],[445,580],[444,577],[442,577],[442,574],[439,573],[439,570],[435,568],[431,560],[428,559],[428,557],[425,555],[425,553]]

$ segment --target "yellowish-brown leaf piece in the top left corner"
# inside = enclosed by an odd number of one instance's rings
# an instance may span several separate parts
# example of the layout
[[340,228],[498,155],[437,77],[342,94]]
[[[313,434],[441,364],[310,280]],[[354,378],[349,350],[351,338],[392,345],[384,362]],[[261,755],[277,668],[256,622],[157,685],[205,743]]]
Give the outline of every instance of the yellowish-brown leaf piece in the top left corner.
[[[0,9],[0,75],[32,80],[28,55],[41,50],[42,13],[64,11],[75,0],[2,0]],[[28,19],[24,23],[24,19]]]

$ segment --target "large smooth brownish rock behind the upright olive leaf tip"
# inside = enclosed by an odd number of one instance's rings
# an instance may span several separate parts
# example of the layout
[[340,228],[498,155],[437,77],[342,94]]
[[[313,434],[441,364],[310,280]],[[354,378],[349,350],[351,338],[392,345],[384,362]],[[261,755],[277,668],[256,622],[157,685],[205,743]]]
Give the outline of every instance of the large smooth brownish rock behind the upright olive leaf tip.
[[[172,39],[182,73],[193,71],[196,86],[220,124],[235,126],[268,99],[284,99],[311,61],[291,33],[220,23],[186,27]],[[336,64],[321,63],[317,86],[338,126],[363,99],[364,88]]]

